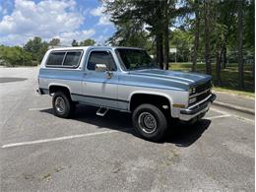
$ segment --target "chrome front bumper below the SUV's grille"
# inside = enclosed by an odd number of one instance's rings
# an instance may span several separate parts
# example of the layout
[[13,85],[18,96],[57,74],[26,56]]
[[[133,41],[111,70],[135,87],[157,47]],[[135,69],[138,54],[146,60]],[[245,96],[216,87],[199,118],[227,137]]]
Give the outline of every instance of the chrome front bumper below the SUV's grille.
[[188,108],[181,109],[179,114],[179,119],[183,121],[189,121],[197,116],[201,116],[209,110],[211,103],[216,99],[216,95],[212,94],[208,96],[202,102],[196,103]]

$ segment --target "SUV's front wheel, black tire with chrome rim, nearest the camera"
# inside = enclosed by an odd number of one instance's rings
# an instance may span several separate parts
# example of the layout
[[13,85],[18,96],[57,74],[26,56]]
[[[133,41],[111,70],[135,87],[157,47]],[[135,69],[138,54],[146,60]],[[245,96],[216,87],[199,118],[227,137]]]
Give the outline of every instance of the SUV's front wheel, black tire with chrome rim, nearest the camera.
[[136,132],[146,140],[160,142],[167,130],[165,115],[153,104],[139,105],[133,111],[132,121]]

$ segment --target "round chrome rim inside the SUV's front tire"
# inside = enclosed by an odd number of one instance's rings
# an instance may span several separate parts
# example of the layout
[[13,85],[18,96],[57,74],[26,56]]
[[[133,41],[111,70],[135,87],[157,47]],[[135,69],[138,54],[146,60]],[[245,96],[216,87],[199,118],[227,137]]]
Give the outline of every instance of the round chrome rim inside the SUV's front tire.
[[157,129],[157,120],[149,112],[142,112],[138,118],[139,126],[147,134],[152,134]]

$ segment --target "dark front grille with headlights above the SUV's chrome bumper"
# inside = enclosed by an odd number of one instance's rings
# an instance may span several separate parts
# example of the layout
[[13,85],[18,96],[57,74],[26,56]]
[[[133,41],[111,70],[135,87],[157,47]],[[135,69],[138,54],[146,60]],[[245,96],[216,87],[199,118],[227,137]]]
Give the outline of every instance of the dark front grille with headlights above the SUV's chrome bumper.
[[[211,81],[205,83],[205,84],[202,84],[202,85],[199,85],[197,86],[195,89],[196,89],[196,93],[193,94],[195,96],[191,96],[190,98],[192,97],[196,97],[196,101],[192,102],[192,103],[189,103],[189,106],[190,105],[193,105],[195,104],[196,102],[199,102],[203,99],[205,99],[207,96],[210,96],[211,95],[211,88],[212,88],[212,84],[211,84]],[[200,94],[202,93],[202,94]]]

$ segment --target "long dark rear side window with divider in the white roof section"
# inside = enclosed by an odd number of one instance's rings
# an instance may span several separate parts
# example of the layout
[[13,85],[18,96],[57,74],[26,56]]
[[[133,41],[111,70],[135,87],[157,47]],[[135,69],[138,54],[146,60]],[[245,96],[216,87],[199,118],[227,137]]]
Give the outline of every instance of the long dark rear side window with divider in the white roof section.
[[76,68],[80,63],[82,50],[52,51],[46,61],[48,67]]

